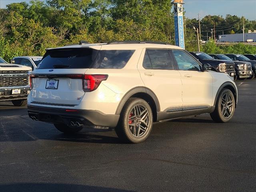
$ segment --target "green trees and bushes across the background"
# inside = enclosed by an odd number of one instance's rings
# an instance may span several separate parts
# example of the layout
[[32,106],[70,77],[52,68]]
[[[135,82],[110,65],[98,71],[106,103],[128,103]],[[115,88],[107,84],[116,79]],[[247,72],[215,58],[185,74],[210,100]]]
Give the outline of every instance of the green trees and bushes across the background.
[[[0,56],[43,55],[46,48],[113,40],[148,40],[174,44],[174,18],[170,0],[32,0],[0,8]],[[185,47],[197,50],[193,26],[198,20],[184,18]],[[237,16],[206,16],[201,20],[202,39],[205,29],[213,25],[234,25],[227,32],[240,32]],[[246,30],[256,29],[256,21],[245,19]],[[217,31],[216,35],[222,32]],[[210,36],[210,33],[209,33]],[[201,50],[208,53],[255,53],[255,46],[238,44],[216,46],[208,42]]]

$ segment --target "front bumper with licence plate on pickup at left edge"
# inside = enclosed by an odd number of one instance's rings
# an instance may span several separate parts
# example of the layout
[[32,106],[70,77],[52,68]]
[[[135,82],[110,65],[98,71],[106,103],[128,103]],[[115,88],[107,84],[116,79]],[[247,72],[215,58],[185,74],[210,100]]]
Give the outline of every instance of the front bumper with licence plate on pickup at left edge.
[[30,86],[1,87],[0,101],[11,101],[26,99],[30,93]]

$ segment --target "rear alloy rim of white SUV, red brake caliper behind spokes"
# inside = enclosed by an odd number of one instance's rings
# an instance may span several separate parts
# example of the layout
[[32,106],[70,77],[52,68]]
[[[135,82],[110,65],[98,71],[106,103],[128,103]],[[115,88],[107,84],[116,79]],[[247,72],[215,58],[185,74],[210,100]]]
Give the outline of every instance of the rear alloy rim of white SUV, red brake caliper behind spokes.
[[128,117],[128,126],[130,133],[136,138],[141,138],[148,132],[150,115],[144,105],[138,104],[132,108]]

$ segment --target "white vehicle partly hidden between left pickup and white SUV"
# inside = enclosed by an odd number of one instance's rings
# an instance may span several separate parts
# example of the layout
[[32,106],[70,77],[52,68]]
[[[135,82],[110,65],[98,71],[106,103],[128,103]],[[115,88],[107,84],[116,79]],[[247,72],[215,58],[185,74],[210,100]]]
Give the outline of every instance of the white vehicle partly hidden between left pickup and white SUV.
[[16,64],[29,66],[32,68],[32,70],[34,70],[42,60],[42,56],[19,56],[19,57],[14,57],[12,61],[13,60],[14,60],[14,63]]

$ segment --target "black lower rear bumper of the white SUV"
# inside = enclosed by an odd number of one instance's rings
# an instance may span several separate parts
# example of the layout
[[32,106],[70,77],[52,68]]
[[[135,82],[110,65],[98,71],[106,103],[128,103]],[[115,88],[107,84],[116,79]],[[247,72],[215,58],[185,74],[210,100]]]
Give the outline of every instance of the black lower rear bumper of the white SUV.
[[116,127],[120,115],[104,114],[97,110],[66,111],[65,108],[38,107],[28,105],[28,115],[33,120],[70,125],[77,121],[84,125]]

